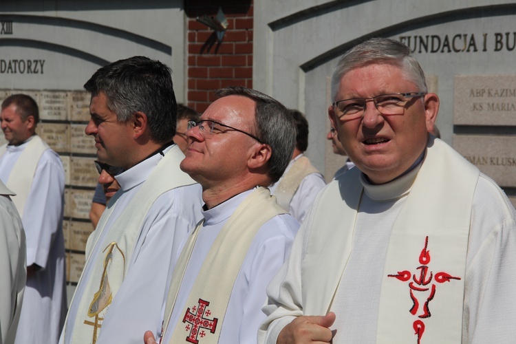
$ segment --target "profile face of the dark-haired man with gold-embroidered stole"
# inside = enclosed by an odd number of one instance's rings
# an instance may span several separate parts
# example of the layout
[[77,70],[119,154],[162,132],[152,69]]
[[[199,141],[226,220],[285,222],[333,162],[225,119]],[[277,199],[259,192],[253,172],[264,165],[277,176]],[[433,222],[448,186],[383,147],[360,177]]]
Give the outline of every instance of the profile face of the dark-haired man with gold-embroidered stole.
[[108,109],[107,98],[103,93],[92,97],[89,112],[91,119],[85,133],[95,138],[98,160],[129,169],[133,143],[130,121],[118,122],[116,114]]

